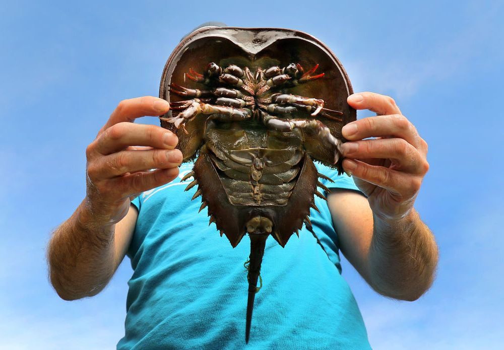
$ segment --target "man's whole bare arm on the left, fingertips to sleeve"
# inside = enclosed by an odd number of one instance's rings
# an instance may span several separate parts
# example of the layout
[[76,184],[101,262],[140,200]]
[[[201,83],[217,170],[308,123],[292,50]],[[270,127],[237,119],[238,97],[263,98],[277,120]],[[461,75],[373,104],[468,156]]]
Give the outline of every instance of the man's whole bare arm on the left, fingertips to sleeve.
[[135,229],[138,213],[131,200],[177,176],[177,137],[159,126],[132,123],[168,108],[155,97],[124,100],[88,146],[86,198],[47,248],[51,283],[62,299],[94,296],[107,285]]

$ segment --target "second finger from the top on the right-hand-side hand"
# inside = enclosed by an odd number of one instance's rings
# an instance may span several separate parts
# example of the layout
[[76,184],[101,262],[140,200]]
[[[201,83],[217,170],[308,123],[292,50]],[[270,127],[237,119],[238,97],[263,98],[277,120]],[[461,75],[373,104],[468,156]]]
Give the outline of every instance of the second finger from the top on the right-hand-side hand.
[[345,125],[342,134],[349,141],[357,141],[367,137],[399,137],[404,138],[415,148],[420,147],[420,136],[413,124],[400,114],[368,117]]

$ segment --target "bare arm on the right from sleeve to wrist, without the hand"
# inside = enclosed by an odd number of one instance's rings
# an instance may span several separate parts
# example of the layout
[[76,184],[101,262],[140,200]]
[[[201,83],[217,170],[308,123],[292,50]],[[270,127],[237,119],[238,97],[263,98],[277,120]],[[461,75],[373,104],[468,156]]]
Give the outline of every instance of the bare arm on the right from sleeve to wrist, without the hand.
[[413,301],[434,278],[437,248],[416,212],[396,227],[373,220],[366,198],[348,190],[328,196],[341,251],[376,292]]

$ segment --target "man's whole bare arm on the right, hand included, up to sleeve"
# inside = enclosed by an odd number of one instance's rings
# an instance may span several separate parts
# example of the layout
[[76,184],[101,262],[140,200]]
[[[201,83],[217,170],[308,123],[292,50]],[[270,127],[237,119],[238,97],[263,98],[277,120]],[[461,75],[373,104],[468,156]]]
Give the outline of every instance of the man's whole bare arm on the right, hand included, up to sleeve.
[[[346,125],[343,167],[367,196],[337,191],[329,206],[341,249],[378,293],[416,300],[430,287],[437,246],[413,204],[428,170],[427,144],[390,97],[349,97],[379,116]],[[369,139],[369,137],[376,137]]]

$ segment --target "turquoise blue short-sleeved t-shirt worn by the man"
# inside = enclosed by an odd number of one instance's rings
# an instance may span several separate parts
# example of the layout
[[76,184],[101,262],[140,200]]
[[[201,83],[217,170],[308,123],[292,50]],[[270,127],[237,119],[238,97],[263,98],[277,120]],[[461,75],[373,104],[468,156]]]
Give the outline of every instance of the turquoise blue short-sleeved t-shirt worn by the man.
[[[180,179],[193,164],[182,164],[177,179],[133,201],[139,215],[128,256],[134,273],[128,283],[125,335],[118,349],[369,349],[357,303],[341,276],[338,236],[326,202],[310,220],[326,252],[305,229],[282,248],[266,242],[250,340],[245,344],[248,283],[243,263],[250,253],[245,235],[236,248],[207,209],[198,214],[196,186]],[[335,183],[357,190],[353,180],[317,164]],[[321,192],[322,189],[319,189]],[[323,192],[324,193],[324,192]],[[324,193],[327,195],[327,193]]]

